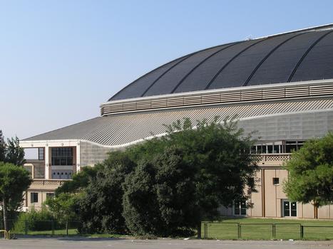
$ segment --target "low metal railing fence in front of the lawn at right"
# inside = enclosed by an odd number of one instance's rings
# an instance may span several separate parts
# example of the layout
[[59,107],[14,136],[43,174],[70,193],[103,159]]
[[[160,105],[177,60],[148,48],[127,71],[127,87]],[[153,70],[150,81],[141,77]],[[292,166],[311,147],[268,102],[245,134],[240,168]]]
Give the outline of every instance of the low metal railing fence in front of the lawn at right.
[[203,238],[249,239],[333,239],[333,226],[307,226],[301,223],[219,223],[204,222]]

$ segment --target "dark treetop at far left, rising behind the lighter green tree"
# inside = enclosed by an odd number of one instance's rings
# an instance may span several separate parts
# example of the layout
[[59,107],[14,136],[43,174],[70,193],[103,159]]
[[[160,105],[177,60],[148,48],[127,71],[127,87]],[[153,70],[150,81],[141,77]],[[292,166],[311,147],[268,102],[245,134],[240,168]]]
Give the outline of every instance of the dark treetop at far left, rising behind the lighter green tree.
[[24,149],[20,147],[19,143],[18,137],[7,139],[5,161],[16,166],[22,166],[26,161],[24,159]]

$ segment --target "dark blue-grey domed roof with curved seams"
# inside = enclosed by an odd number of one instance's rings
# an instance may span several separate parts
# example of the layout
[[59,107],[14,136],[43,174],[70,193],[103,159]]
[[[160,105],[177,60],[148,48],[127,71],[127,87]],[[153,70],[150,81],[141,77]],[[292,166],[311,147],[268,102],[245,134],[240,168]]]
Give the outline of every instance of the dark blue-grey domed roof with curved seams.
[[332,26],[322,26],[190,53],[143,75],[109,101],[175,92],[331,79],[332,32]]

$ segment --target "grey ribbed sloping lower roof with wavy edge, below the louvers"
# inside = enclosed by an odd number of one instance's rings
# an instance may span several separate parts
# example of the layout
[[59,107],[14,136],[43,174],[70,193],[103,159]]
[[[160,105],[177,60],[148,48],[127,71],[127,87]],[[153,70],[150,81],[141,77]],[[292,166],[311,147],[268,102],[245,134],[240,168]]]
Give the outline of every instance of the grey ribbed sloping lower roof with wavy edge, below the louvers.
[[212,120],[215,116],[225,118],[237,115],[239,118],[244,118],[307,110],[332,110],[332,108],[333,100],[327,99],[111,115],[56,129],[53,132],[40,134],[23,141],[85,139],[98,144],[116,146],[145,139],[152,134],[161,134],[165,132],[163,124],[171,124],[184,117],[189,117],[192,120],[203,118]]

